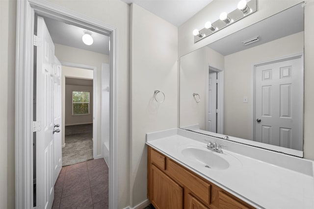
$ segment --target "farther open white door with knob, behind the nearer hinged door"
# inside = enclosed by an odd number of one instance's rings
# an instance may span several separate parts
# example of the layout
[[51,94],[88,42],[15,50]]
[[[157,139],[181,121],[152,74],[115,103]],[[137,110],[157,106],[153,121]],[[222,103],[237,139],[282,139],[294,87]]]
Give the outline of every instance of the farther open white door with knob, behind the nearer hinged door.
[[56,131],[53,134],[53,182],[55,183],[62,168],[62,124],[61,124],[61,63],[54,56],[54,128]]

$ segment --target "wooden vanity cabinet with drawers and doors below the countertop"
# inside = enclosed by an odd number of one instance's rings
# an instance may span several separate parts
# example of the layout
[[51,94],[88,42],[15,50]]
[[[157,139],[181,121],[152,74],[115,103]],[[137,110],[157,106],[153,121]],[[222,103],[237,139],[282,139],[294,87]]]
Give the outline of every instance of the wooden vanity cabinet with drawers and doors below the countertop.
[[254,209],[148,146],[148,199],[156,209]]

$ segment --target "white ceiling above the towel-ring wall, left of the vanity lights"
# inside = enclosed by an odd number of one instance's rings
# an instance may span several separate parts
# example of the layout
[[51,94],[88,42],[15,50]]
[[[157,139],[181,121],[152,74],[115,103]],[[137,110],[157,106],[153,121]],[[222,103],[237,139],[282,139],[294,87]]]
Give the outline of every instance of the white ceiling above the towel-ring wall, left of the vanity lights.
[[135,3],[169,23],[179,27],[212,0],[122,0]]

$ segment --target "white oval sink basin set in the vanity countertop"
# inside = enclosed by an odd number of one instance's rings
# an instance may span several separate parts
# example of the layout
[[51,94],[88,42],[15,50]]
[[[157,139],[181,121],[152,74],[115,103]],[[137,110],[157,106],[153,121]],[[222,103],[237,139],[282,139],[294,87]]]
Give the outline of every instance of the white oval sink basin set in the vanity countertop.
[[240,167],[241,163],[232,155],[217,153],[206,148],[206,145],[183,144],[180,146],[181,155],[188,164],[211,170],[225,170]]

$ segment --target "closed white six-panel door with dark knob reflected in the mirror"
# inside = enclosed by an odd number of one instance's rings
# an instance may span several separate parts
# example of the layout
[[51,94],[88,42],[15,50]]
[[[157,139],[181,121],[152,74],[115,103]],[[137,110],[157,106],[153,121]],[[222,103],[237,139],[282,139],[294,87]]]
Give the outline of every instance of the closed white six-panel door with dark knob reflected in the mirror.
[[255,68],[255,140],[303,149],[302,59]]

